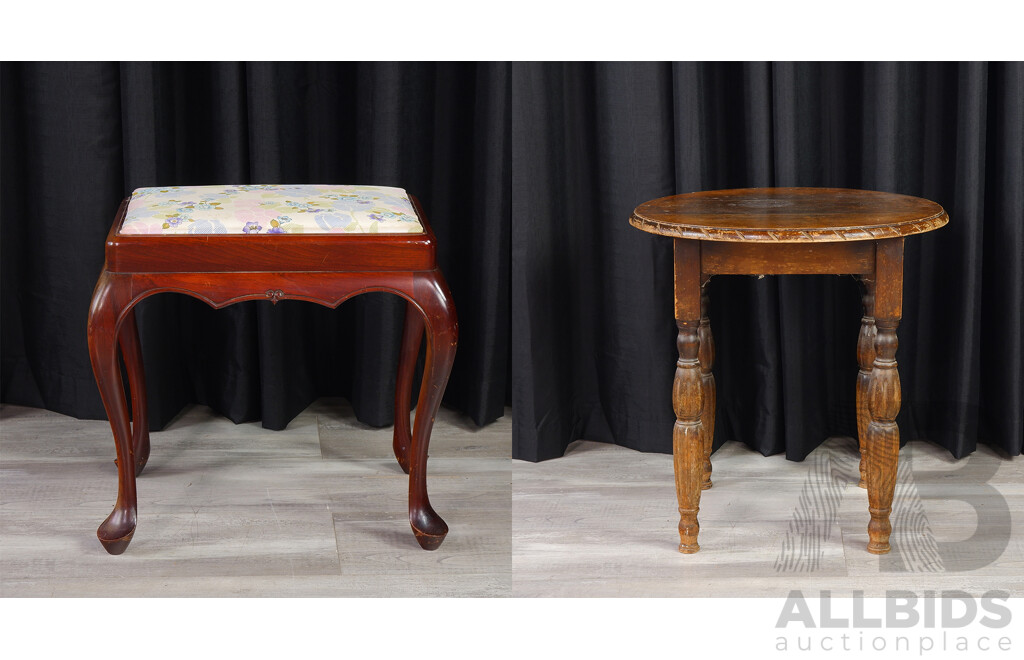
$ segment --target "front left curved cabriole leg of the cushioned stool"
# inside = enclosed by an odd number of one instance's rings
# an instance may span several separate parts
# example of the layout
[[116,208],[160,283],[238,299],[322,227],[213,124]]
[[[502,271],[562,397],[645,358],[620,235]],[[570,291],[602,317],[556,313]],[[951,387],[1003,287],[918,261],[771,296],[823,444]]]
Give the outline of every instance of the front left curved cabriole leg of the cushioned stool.
[[135,449],[118,363],[118,315],[127,302],[128,285],[126,277],[104,270],[92,295],[88,324],[89,358],[114,431],[118,455],[118,498],[114,511],[96,530],[99,542],[111,555],[125,552],[135,533],[136,522]]

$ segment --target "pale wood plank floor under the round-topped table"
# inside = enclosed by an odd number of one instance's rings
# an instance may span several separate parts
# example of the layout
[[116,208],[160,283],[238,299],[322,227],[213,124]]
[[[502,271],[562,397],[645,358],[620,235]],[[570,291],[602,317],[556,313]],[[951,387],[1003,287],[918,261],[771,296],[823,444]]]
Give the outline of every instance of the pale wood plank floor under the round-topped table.
[[723,446],[712,456],[714,487],[701,494],[695,555],[676,551],[672,456],[580,441],[562,458],[514,460],[513,595],[1024,595],[1020,456],[982,447],[957,461],[929,443],[905,446],[894,551],[881,559],[865,549],[867,493],[853,481],[857,460],[849,438],[829,439],[803,463]]

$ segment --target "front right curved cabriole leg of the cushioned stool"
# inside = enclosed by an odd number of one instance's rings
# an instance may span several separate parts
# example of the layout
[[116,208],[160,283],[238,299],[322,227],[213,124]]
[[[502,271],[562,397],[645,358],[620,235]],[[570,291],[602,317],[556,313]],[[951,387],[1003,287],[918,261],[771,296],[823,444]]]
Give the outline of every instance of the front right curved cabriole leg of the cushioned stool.
[[409,522],[420,546],[436,549],[449,530],[441,517],[430,507],[427,496],[427,447],[434,415],[455,361],[459,326],[452,295],[440,272],[433,270],[417,276],[416,302],[422,309],[427,331],[427,358],[409,450]]

